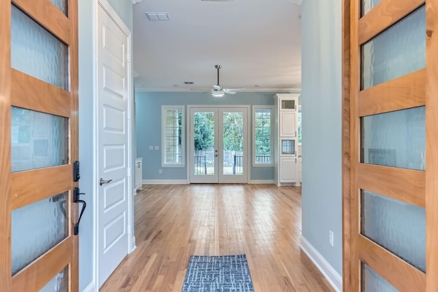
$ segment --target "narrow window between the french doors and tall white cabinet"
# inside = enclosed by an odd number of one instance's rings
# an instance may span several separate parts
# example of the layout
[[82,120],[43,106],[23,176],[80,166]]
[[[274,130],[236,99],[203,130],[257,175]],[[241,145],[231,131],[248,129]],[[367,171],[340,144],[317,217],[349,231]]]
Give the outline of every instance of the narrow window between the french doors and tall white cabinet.
[[272,106],[253,106],[253,166],[272,166]]

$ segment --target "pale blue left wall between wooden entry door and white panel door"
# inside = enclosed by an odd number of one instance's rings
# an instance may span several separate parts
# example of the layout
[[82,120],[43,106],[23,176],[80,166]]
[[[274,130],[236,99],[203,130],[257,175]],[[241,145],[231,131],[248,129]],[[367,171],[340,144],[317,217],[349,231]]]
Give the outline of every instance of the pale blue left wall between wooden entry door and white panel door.
[[[132,3],[128,0],[109,0],[114,10],[132,31]],[[79,161],[81,180],[79,187],[86,193],[83,199],[87,209],[83,213],[79,228],[79,291],[83,291],[93,280],[93,188],[96,175],[93,168],[94,124],[94,11],[96,0],[79,0]]]

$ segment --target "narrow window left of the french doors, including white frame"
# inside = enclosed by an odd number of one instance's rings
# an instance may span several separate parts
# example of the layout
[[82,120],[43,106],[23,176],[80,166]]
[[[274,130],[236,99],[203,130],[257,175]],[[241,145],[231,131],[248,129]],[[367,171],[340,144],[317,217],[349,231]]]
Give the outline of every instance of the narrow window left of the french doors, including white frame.
[[162,106],[162,166],[183,168],[184,150],[184,106]]

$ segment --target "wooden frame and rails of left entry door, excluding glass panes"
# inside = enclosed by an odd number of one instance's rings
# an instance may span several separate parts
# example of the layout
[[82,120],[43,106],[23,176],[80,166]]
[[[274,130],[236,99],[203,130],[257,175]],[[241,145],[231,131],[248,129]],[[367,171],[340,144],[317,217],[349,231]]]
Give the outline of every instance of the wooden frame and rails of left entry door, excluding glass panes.
[[[73,228],[78,206],[73,202],[73,161],[78,159],[78,16],[77,0],[66,0],[64,15],[50,0],[0,0],[0,283],[2,291],[41,289],[63,267],[69,265],[69,289],[78,291],[78,236]],[[31,16],[39,25],[68,46],[69,86],[56,88],[11,68],[12,4]],[[69,118],[68,164],[11,172],[11,107],[24,107]],[[50,183],[55,176],[62,183]],[[68,174],[63,175],[63,174]],[[22,181],[25,179],[25,181]],[[40,181],[38,181],[38,179]],[[31,186],[31,187],[29,187]],[[11,213],[12,210],[36,200],[68,191],[68,236],[12,276]],[[38,194],[38,196],[36,196]]]

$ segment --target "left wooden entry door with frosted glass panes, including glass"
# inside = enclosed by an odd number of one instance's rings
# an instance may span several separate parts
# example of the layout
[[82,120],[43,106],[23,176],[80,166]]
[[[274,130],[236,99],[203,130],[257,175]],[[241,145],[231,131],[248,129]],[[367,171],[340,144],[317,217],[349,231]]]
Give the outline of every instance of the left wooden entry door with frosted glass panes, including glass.
[[0,289],[78,291],[77,1],[0,7]]

